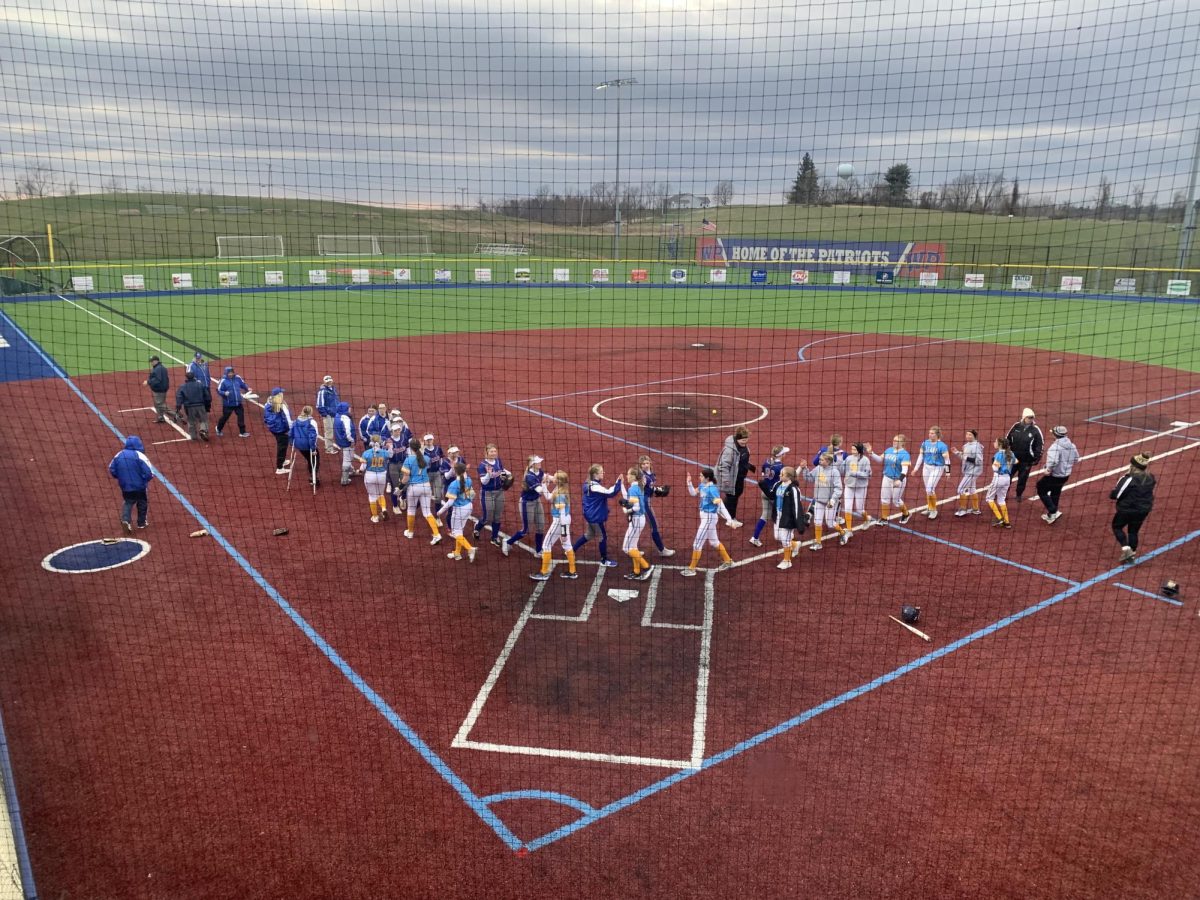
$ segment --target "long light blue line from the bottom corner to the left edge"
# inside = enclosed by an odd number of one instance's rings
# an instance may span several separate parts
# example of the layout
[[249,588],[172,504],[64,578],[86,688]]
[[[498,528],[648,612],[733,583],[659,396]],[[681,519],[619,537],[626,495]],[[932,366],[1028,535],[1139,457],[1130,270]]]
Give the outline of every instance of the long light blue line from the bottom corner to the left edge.
[[[2,310],[0,310],[0,316],[2,316],[5,320],[17,329],[17,332],[22,336],[22,338],[29,342],[29,346],[32,347],[42,356],[42,359],[44,359],[47,364],[49,364],[59,373],[59,377],[62,378],[72,391],[74,391],[76,396],[78,396],[79,400],[82,400],[88,408],[91,409],[91,412],[95,413],[96,416],[108,427],[108,430],[124,443],[125,436],[120,432],[120,430],[113,425],[91,401],[91,398],[62,372],[58,364],[54,362],[54,360],[52,360],[44,350],[42,350],[42,348],[38,347],[31,337],[29,337],[29,335],[22,331],[17,323],[8,318]],[[301,632],[304,632],[305,637],[307,637],[313,646],[322,652],[325,659],[329,660],[329,662],[332,664],[332,666],[341,672],[350,684],[354,685],[355,690],[358,690],[359,694],[361,694],[367,702],[370,702],[371,706],[373,706],[376,710],[383,715],[383,718],[386,719],[397,732],[400,732],[404,740],[407,740],[409,745],[412,745],[412,748],[416,750],[416,752],[420,754],[431,767],[433,767],[434,772],[437,772],[446,781],[446,784],[449,784],[458,793],[463,802],[499,835],[500,840],[503,840],[510,850],[518,850],[522,846],[521,840],[512,834],[508,826],[505,826],[504,822],[502,822],[496,814],[492,812],[487,804],[484,803],[479,796],[467,786],[467,782],[458,778],[458,775],[445,763],[445,761],[421,739],[412,726],[409,726],[408,722],[401,719],[400,715],[390,706],[388,706],[388,702],[379,696],[379,694],[376,692],[376,690],[371,688],[371,685],[368,685],[362,677],[354,671],[354,668],[350,667],[349,662],[342,659],[337,650],[335,650],[334,647],[325,641],[325,638],[322,637],[287,600],[283,599],[283,595],[280,594],[280,592],[276,590],[269,581],[266,581],[266,578],[250,563],[250,560],[246,559],[246,557],[244,557],[238,548],[234,547],[233,544],[230,544],[224,535],[217,530],[216,526],[209,522],[204,515],[192,505],[191,500],[188,500],[182,492],[157,469],[157,467],[151,466],[151,468],[154,469],[157,479],[162,482],[162,486],[167,488],[172,497],[179,500],[184,509],[186,509],[196,518],[196,521],[209,532],[209,535],[216,540],[226,553],[228,553],[251,578],[253,578],[254,583],[257,583],[266,593],[266,595],[275,601],[276,606],[283,611],[283,614],[287,616],[292,623],[299,628]]]

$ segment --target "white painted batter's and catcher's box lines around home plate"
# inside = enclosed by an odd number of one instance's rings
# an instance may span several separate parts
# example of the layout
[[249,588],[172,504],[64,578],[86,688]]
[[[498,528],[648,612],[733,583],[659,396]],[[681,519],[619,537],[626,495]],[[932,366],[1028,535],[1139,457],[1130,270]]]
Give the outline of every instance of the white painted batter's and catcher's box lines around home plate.
[[480,716],[484,714],[484,708],[487,706],[488,697],[492,694],[492,689],[499,682],[500,676],[504,673],[504,668],[508,665],[509,658],[512,650],[516,648],[517,642],[521,640],[521,635],[526,629],[526,625],[532,620],[539,622],[566,622],[566,623],[584,623],[592,617],[592,612],[595,608],[598,598],[604,589],[605,575],[611,571],[607,566],[598,566],[595,577],[592,580],[592,584],[588,588],[587,596],[583,600],[583,606],[577,616],[563,616],[557,613],[539,613],[534,612],[538,606],[538,601],[541,599],[542,592],[546,584],[551,583],[548,581],[538,582],[536,587],[530,592],[529,599],[526,601],[524,608],[517,617],[516,624],[509,632],[508,640],[504,642],[504,647],[500,649],[500,654],[496,658],[496,662],[492,666],[492,671],[488,672],[487,678],[484,680],[482,686],[479,689],[479,694],[475,695],[475,700],[470,704],[470,709],[467,713],[467,718],[463,719],[462,726],[458,728],[458,733],[455,734],[454,740],[450,742],[450,746],[456,750],[482,750],[496,754],[517,754],[523,756],[544,756],[553,757],[560,760],[572,760],[576,762],[605,762],[613,763],[618,766],[648,766],[654,768],[665,769],[677,769],[677,770],[697,770],[704,761],[704,734],[708,728],[708,678],[712,660],[712,648],[713,648],[713,619],[715,616],[715,590],[713,587],[713,578],[715,572],[713,570],[704,571],[704,612],[703,620],[700,625],[673,623],[673,622],[654,622],[654,610],[658,605],[659,595],[659,582],[662,577],[665,570],[674,570],[676,566],[655,566],[650,572],[650,580],[647,582],[646,590],[646,607],[642,612],[641,626],[642,628],[658,628],[658,629],[671,629],[677,631],[697,631],[700,634],[700,648],[696,656],[696,701],[695,708],[692,710],[692,725],[691,725],[691,752],[686,760],[672,760],[666,757],[656,756],[637,756],[632,754],[606,754],[593,750],[570,750],[565,748],[551,748],[551,746],[535,746],[524,744],[500,744],[486,740],[472,740],[470,732],[474,730],[475,725],[479,722]]

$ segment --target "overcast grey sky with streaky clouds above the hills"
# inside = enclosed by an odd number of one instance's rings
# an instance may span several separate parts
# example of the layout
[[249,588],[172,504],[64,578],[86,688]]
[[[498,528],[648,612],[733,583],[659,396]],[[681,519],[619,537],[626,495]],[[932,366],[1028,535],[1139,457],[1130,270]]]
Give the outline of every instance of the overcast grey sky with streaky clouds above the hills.
[[1195,0],[6,0],[0,191],[43,166],[82,192],[574,192],[614,179],[619,103],[623,182],[779,203],[811,152],[1166,202],[1198,36]]

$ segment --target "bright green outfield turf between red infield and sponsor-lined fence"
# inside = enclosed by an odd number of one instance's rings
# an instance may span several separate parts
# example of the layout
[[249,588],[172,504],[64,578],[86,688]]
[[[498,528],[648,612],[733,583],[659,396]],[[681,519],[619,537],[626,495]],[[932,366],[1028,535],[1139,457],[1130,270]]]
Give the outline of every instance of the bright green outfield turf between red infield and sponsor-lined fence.
[[[1150,301],[888,290],[462,287],[73,299],[2,307],[72,374],[144,368],[146,344],[180,359],[190,358],[193,347],[229,359],[418,334],[658,325],[954,338],[1200,371],[1200,310]],[[596,340],[605,340],[604,334],[598,331]]]

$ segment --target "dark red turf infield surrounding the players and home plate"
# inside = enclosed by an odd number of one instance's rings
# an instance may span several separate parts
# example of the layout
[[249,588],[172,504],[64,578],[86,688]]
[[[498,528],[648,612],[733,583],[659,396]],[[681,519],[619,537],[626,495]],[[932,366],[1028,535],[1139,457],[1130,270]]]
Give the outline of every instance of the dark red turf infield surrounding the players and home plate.
[[[955,422],[956,443],[966,425],[1007,428],[1009,407],[1025,403],[1044,424],[1072,426],[1086,454],[1138,437],[1086,418],[1200,386],[1194,376],[1164,370],[1012,349],[998,350],[1006,378],[995,384],[996,356],[986,348],[877,354],[886,342],[860,337],[818,348],[840,359],[791,365],[815,336],[704,331],[698,340],[720,350],[692,350],[696,334],[652,341],[613,332],[616,343],[580,348],[574,358],[564,346],[569,332],[553,337],[565,359],[558,370],[589,388],[788,362],[670,388],[768,406],[770,415],[754,426],[756,461],[772,443],[810,452],[835,425],[882,445],[896,428],[917,436],[932,421],[948,430]],[[496,343],[521,367],[546,340],[514,334]],[[239,368],[259,390],[274,383],[299,389],[331,371],[361,406],[394,395],[385,391],[390,378],[364,383],[360,360],[439,356],[450,346],[448,338],[380,342],[338,347],[336,356],[306,350],[239,360]],[[611,475],[636,452],[508,409],[505,400],[578,388],[539,380],[530,390],[500,365],[488,370],[487,396],[473,392],[474,376],[464,370],[401,407],[414,426],[446,422],[433,431],[443,444],[460,443],[472,461],[494,439],[512,468],[518,454],[536,450],[572,475],[592,461],[605,462]],[[935,401],[926,396],[929,372],[974,389]],[[142,406],[138,380],[86,378],[80,386],[113,413]],[[1128,391],[1117,402],[1100,386],[1114,382]],[[857,401],[827,390],[854,383],[868,385]],[[11,384],[4,395],[14,409],[74,415],[82,406],[60,383]],[[647,436],[600,422],[590,408],[604,396],[526,406],[688,458],[715,457],[724,431]],[[1156,428],[1200,421],[1196,396],[1139,410],[1139,422],[1117,421]],[[881,409],[904,410],[905,421],[881,420]],[[80,415],[72,468],[102,473],[115,440]],[[132,415],[114,421],[130,430]],[[139,427],[146,436],[156,426]],[[330,478],[316,498],[295,486],[286,494],[269,473],[257,416],[253,427],[247,442],[170,444],[152,456],[479,794],[540,788],[600,805],[668,774],[451,749],[530,593],[532,558],[502,559],[485,546],[468,576],[466,564],[403,541],[395,523],[370,526],[361,485],[340,488]],[[1153,448],[1181,445],[1159,438]],[[92,486],[68,493],[53,467],[20,454],[16,434],[0,433],[0,446],[16,461],[12,508],[24,523],[4,564],[13,587],[0,604],[4,715],[44,895],[1160,896],[1183,895],[1196,881],[1186,835],[1198,814],[1188,713],[1200,698],[1198,635],[1180,610],[1153,599],[1110,584],[1088,589],[518,859],[215,542],[184,536],[194,520],[164,491],[154,496],[154,550],[137,565],[74,577],[37,568],[55,546],[109,533],[115,492],[98,474]],[[1156,464],[1164,490],[1147,547],[1180,536],[1192,521],[1193,492],[1181,482],[1195,476],[1193,452]],[[1098,457],[1079,478],[1128,455]],[[662,479],[682,488],[683,463],[659,460]],[[1052,532],[1032,504],[1014,514],[1009,533],[946,516],[916,528],[1081,580],[1114,558],[1106,491],[1100,480],[1068,492],[1068,516]],[[690,498],[676,491],[659,515],[668,542],[684,548],[695,524]],[[288,524],[288,538],[271,538],[272,524]],[[736,558],[757,552],[745,532],[736,535]],[[1194,546],[1118,580],[1151,593],[1168,575],[1200,583]],[[581,557],[594,553],[588,546]],[[582,572],[578,582],[547,587],[546,611],[577,611],[595,570]],[[662,577],[655,620],[682,622],[702,580]],[[886,618],[896,598],[923,598],[937,647],[1064,587],[892,529],[805,553],[791,572],[762,562],[721,574],[707,752],[923,653]],[[649,641],[631,622],[641,599],[599,602],[594,622],[539,622],[542,634],[523,636],[530,640],[518,642],[480,719],[484,731],[473,737],[642,751],[660,734],[664,743],[680,730],[688,734],[692,710],[680,710],[678,697],[695,685],[688,638],[696,632]],[[575,817],[540,800],[497,811],[523,839]]]

